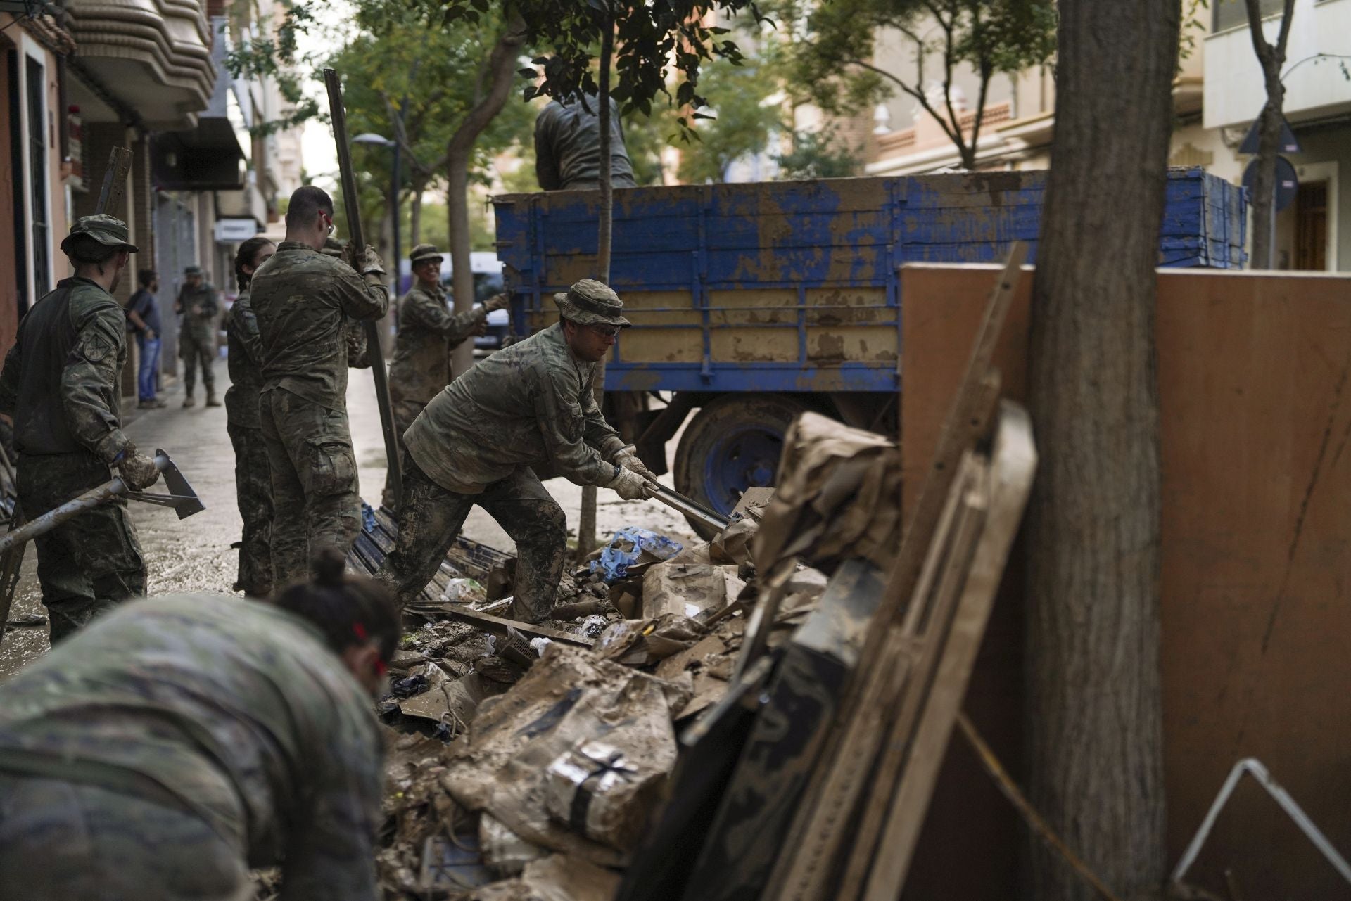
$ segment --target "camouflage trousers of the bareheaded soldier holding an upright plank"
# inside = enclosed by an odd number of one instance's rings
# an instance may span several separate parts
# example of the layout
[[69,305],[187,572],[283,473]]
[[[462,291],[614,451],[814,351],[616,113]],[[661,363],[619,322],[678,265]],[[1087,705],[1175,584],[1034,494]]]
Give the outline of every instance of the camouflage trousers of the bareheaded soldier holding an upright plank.
[[285,388],[258,398],[272,467],[272,584],[303,581],[309,555],[323,547],[343,554],[361,532],[357,457],[347,413]]

